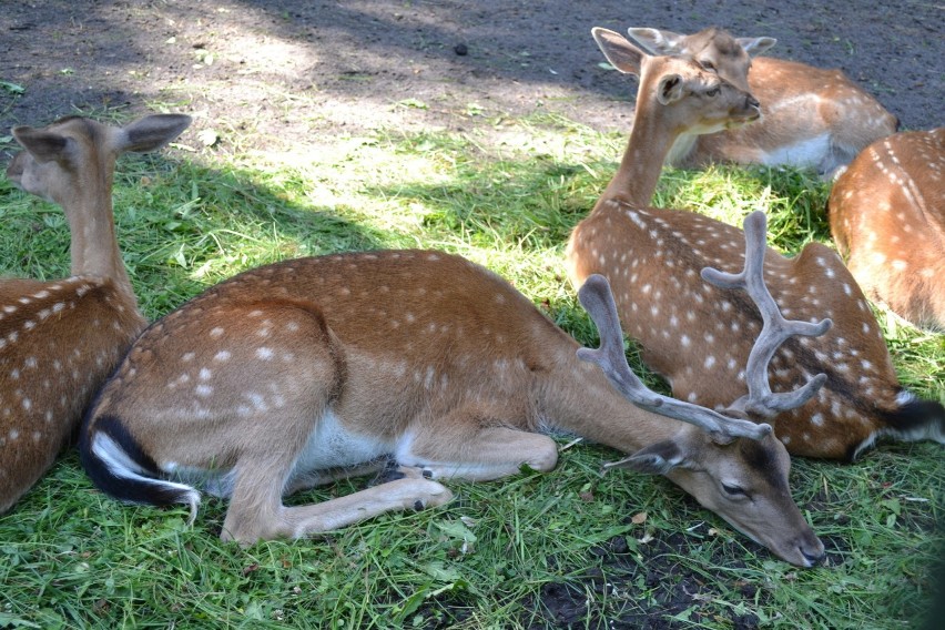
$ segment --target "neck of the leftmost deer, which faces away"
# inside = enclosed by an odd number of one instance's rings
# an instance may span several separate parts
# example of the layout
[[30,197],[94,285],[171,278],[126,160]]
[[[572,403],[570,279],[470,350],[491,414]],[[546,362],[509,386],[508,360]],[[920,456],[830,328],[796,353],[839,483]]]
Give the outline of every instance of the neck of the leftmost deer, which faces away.
[[136,306],[138,302],[115,238],[112,214],[112,177],[102,174],[89,185],[75,186],[78,194],[60,204],[65,211],[72,236],[71,274],[111,280],[118,291]]

